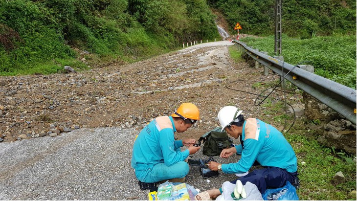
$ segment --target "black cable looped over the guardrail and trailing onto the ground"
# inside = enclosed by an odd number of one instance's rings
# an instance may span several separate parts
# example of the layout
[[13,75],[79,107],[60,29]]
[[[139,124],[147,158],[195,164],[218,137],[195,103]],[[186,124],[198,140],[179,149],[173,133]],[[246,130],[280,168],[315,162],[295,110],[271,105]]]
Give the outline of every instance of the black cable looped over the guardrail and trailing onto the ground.
[[[262,93],[264,93],[264,92],[267,91],[268,89],[272,89],[272,88],[265,89],[265,90],[263,90],[260,94],[255,94],[255,93],[251,93],[251,92],[249,92],[249,91],[243,91],[243,90],[233,89],[233,88],[229,88],[229,87],[228,87],[228,84],[229,84],[229,83],[237,82],[238,80],[237,80],[237,81],[231,81],[231,82],[227,83],[227,85],[226,85],[225,87],[228,88],[228,89],[237,90],[237,91],[241,91],[241,92],[245,92],[245,93],[257,95],[257,98],[254,100],[254,106],[259,106],[260,104],[262,104],[262,103],[270,96],[270,94],[271,94],[274,90],[276,90],[276,88],[284,81],[284,79],[286,79],[286,76],[288,76],[288,74],[291,72],[291,70],[293,70],[295,67],[297,67],[297,66],[299,66],[299,65],[301,65],[301,64],[303,64],[303,63],[312,63],[312,62],[311,62],[311,61],[303,61],[303,62],[300,62],[300,63],[298,63],[297,65],[295,65],[294,67],[292,67],[292,68],[289,70],[289,72],[284,76],[284,64],[285,64],[285,62],[283,62],[283,69],[282,69],[283,79],[280,80],[280,82],[274,87],[273,90],[270,91],[270,93],[269,93],[267,96],[263,96]],[[247,82],[248,80],[243,80],[243,81]],[[261,83],[261,82],[259,82],[259,83]],[[285,113],[287,114],[287,105],[289,105],[289,106],[291,107],[291,109],[292,109],[293,114],[294,114],[294,119],[293,119],[293,121],[292,121],[292,123],[291,123],[290,128],[286,131],[286,133],[287,133],[287,132],[290,131],[290,129],[292,128],[292,126],[293,126],[294,123],[295,123],[296,114],[295,114],[294,108],[293,108],[289,103],[286,102],[285,85],[284,85],[284,87],[283,87],[283,92],[284,92]],[[256,101],[258,100],[258,97],[259,97],[259,96],[265,97],[265,98],[264,98],[260,103],[256,104]],[[277,98],[274,98],[274,99],[279,100],[279,101],[282,101],[282,100],[277,99]],[[284,129],[285,129],[286,124],[287,124],[287,119],[285,118],[285,124],[284,124],[284,127],[283,127],[281,133],[284,132]]]

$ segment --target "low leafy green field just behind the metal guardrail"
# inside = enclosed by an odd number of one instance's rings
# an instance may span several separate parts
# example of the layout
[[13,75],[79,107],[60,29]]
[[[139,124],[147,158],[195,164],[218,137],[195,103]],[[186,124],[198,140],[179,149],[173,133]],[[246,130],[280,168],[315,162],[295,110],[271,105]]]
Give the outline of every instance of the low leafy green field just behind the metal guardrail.
[[[248,46],[274,55],[274,36],[242,39]],[[293,39],[283,35],[284,61],[296,65],[311,61],[315,74],[356,89],[356,35]]]

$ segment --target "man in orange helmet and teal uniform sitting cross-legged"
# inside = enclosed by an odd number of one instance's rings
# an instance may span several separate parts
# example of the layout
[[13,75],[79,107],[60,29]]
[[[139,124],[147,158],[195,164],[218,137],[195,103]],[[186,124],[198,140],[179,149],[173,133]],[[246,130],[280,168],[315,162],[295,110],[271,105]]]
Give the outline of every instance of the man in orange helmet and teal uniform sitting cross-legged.
[[[192,103],[182,103],[171,116],[152,120],[134,142],[132,167],[136,178],[146,183],[168,179],[183,182],[189,171],[184,160],[200,147],[193,146],[196,140],[192,138],[175,140],[174,133],[187,131],[197,120],[200,120],[200,112]],[[181,152],[183,145],[188,149]]]

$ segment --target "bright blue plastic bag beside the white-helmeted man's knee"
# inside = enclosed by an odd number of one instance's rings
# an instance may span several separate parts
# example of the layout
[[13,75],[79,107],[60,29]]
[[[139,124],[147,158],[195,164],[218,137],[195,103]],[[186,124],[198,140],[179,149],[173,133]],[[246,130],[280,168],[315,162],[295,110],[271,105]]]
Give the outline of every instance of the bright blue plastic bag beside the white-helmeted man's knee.
[[267,189],[263,194],[265,201],[298,201],[296,189],[289,181],[281,188]]

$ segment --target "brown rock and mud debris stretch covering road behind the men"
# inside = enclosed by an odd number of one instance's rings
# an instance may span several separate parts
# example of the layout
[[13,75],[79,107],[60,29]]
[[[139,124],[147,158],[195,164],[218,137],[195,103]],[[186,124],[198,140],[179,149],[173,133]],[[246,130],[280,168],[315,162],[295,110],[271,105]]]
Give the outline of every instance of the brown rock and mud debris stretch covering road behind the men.
[[[276,76],[264,77],[262,69],[231,62],[229,45],[233,44],[204,43],[134,64],[79,73],[1,77],[0,137],[9,142],[78,128],[141,129],[183,102],[201,110],[202,132],[216,125],[224,105],[239,106],[249,117],[256,111],[254,97],[227,89],[226,83]],[[240,85],[253,89],[249,83]]]

